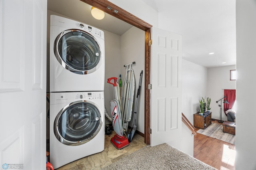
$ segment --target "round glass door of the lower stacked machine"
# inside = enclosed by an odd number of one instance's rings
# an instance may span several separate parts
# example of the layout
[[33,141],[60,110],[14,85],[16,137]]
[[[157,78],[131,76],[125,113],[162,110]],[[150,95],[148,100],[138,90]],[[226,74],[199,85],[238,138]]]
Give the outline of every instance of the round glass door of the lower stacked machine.
[[94,138],[101,127],[98,107],[89,101],[76,101],[58,113],[54,121],[54,134],[63,144],[80,145]]

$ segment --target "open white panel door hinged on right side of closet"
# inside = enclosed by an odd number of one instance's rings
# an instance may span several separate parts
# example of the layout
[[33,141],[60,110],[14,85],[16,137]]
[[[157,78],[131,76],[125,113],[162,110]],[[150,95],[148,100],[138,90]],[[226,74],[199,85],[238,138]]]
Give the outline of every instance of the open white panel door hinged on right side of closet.
[[181,135],[182,36],[152,28],[151,146]]

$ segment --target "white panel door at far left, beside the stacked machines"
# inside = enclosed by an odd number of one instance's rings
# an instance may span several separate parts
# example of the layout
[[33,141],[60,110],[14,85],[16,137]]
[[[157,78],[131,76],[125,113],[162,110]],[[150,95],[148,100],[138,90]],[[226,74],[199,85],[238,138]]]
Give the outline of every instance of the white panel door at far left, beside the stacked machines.
[[0,9],[0,167],[45,170],[47,0]]

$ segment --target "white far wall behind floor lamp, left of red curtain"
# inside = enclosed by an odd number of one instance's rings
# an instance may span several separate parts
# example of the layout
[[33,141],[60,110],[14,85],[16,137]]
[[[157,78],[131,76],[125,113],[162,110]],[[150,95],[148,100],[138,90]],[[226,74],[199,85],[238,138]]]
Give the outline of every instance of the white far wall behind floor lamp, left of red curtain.
[[[220,120],[220,101],[216,101],[224,97],[224,89],[236,89],[236,81],[230,81],[230,70],[236,69],[236,65],[225,67],[208,68],[208,87],[206,97],[211,98],[212,118]],[[223,100],[222,100],[223,102]],[[222,103],[222,120],[227,121],[227,116],[224,113],[224,105]]]

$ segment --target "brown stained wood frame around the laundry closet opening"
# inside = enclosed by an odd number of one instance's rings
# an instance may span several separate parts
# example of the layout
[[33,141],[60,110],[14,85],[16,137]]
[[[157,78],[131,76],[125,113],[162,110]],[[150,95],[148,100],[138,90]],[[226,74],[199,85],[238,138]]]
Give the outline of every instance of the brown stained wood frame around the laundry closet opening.
[[[144,104],[144,142],[150,144],[150,89],[148,85],[150,84],[150,39],[151,39],[151,28],[152,25],[141,20],[140,18],[134,16],[133,14],[127,12],[126,10],[116,6],[108,0],[80,0],[98,8],[107,14],[110,14],[132,26],[135,26],[143,31],[145,31],[145,104]],[[110,9],[110,8],[111,9]],[[114,12],[114,10],[117,11]]]

